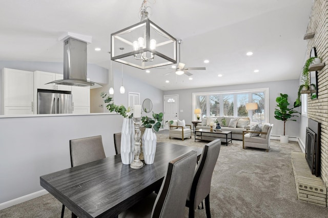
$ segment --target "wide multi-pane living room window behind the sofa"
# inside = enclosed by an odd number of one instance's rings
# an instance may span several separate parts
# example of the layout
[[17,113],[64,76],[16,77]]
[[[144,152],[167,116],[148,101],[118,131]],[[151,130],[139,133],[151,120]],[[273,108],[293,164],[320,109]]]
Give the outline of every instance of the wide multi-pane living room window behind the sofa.
[[[257,103],[258,109],[246,110],[249,102]],[[193,106],[193,111],[201,109],[201,117],[250,117],[251,122],[265,123],[269,121],[269,88],[193,93]]]

